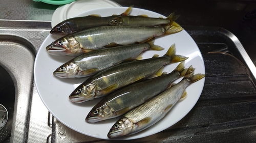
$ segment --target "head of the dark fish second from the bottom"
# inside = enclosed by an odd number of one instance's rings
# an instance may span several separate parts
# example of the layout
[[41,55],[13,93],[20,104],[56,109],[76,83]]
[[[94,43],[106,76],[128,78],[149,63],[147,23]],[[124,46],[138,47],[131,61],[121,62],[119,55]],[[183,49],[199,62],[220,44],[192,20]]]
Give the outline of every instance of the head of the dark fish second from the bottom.
[[109,117],[113,117],[113,111],[109,105],[107,104],[99,105],[99,104],[95,105],[92,108],[92,110],[88,113],[86,117],[86,122],[95,123],[95,122],[109,119]]

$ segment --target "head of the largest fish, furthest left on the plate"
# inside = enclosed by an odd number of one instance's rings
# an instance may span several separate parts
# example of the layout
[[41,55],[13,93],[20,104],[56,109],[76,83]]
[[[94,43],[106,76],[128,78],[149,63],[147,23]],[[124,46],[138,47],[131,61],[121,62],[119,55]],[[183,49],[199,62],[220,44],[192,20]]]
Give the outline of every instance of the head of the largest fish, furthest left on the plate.
[[72,36],[62,37],[46,47],[49,54],[53,55],[79,55],[81,48],[79,42]]

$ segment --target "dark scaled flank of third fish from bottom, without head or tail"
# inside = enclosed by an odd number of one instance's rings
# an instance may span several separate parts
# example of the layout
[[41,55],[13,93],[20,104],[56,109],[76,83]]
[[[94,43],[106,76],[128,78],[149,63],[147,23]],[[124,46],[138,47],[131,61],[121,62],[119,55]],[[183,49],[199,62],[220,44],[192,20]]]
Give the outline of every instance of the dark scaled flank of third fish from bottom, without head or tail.
[[[123,87],[124,85],[130,84],[137,79],[155,73],[167,63],[169,63],[168,58],[158,58],[119,64],[113,67],[111,70],[104,71],[97,74],[97,76],[93,76],[93,80],[89,80],[89,82],[97,85],[98,90],[103,90],[116,83],[119,84],[119,87]],[[116,72],[113,73],[113,71]],[[105,77],[107,77],[107,79]]]

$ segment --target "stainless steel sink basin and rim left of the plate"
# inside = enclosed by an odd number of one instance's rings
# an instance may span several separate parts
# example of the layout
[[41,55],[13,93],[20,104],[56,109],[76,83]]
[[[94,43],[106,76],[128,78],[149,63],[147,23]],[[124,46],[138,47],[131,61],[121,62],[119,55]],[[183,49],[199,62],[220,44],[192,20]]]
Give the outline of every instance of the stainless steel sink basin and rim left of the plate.
[[0,104],[6,107],[9,115],[13,115],[11,137],[5,142],[26,142],[33,95],[34,60],[36,50],[49,34],[45,33],[49,25],[47,22],[38,24],[15,20],[0,20],[0,25],[7,25],[0,28]]

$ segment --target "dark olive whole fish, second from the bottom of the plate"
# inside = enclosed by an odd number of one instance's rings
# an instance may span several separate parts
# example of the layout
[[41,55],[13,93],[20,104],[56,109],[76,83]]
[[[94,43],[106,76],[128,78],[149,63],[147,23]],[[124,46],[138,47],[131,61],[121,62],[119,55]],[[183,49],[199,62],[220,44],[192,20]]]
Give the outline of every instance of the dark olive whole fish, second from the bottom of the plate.
[[117,90],[96,104],[86,117],[86,122],[95,123],[115,118],[158,95],[176,79],[184,76],[184,62],[169,74],[136,82]]

